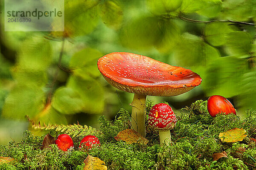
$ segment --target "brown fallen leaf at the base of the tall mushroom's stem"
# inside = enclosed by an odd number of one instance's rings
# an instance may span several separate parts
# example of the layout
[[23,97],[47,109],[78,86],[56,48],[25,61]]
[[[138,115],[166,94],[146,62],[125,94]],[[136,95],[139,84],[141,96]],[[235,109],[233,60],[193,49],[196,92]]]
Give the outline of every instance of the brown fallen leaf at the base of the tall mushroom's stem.
[[147,144],[148,139],[145,139],[140,133],[136,132],[133,129],[125,129],[122,130],[117,134],[116,137],[114,137],[117,141],[125,141],[128,144],[132,143],[140,143],[140,144]]

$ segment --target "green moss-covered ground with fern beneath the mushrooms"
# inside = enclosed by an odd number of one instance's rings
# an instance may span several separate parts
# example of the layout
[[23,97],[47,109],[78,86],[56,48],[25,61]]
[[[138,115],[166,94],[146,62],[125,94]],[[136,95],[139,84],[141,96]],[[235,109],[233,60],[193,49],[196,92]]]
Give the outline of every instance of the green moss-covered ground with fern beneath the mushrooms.
[[[146,111],[152,102],[147,102]],[[246,111],[247,118],[241,120],[234,114],[209,116],[207,101],[198,100],[181,110],[175,129],[171,130],[172,144],[160,145],[158,132],[147,127],[149,140],[144,144],[127,144],[116,141],[119,131],[129,128],[129,114],[124,109],[117,113],[114,122],[99,117],[101,127],[96,130],[81,125],[47,126],[52,136],[69,134],[74,141],[74,150],[64,152],[55,144],[51,149],[41,150],[44,136],[35,136],[30,131],[23,133],[19,143],[12,141],[0,145],[0,156],[12,157],[12,164],[0,164],[0,170],[83,170],[88,154],[105,161],[108,170],[253,170],[256,169],[256,111]],[[247,137],[241,142],[221,142],[221,132],[244,128]],[[57,132],[57,134],[56,134]],[[89,153],[78,150],[83,136],[96,135],[101,146]],[[212,161],[213,153],[226,151],[227,157]]]

